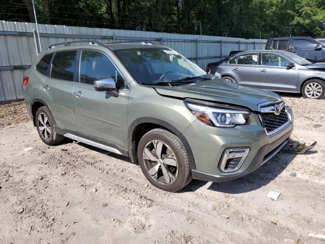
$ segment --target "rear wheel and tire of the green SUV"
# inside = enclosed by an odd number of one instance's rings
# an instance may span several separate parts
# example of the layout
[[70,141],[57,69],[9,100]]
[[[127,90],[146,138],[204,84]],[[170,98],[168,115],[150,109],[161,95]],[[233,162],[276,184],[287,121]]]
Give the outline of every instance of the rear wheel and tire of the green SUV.
[[[39,120],[39,116],[41,116],[41,119],[42,119],[42,118],[44,118],[44,114],[47,117],[47,120],[45,123],[46,127],[47,127],[46,129],[42,129],[42,127],[44,128],[45,126],[44,126],[44,124],[42,124],[41,120]],[[39,133],[39,136],[41,137],[42,141],[45,144],[54,146],[54,145],[61,143],[64,140],[64,136],[56,133],[55,120],[54,120],[50,110],[46,106],[40,107],[36,111],[35,122],[36,122],[37,132]],[[44,120],[43,120],[43,123],[44,123]],[[50,129],[50,130],[48,130],[48,129]],[[47,136],[45,136],[45,133]]]

